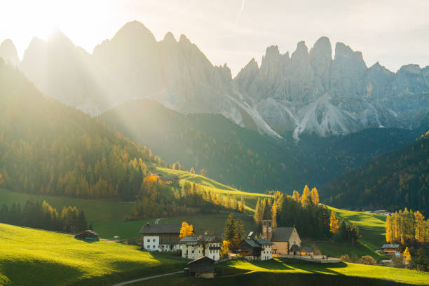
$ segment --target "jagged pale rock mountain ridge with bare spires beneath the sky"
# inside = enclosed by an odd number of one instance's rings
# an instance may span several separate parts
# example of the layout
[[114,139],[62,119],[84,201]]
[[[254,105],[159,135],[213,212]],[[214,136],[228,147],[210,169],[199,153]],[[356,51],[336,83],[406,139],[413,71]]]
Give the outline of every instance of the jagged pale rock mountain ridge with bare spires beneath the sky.
[[[0,56],[2,54],[0,53]],[[182,113],[222,114],[273,137],[292,132],[343,135],[365,128],[416,128],[429,123],[429,67],[397,73],[362,54],[320,38],[308,51],[280,54],[268,47],[260,67],[252,59],[236,76],[216,67],[186,36],[162,41],[133,21],[93,54],[60,32],[34,39],[18,67],[46,95],[97,115],[137,98]],[[67,67],[67,69],[64,69]]]

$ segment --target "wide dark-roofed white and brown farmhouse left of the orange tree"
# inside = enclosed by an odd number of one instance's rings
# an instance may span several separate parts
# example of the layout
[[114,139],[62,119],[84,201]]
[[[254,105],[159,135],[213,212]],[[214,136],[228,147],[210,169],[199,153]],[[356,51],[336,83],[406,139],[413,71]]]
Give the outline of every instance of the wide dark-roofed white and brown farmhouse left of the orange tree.
[[148,251],[174,251],[179,249],[180,224],[149,224],[142,226],[142,247]]

